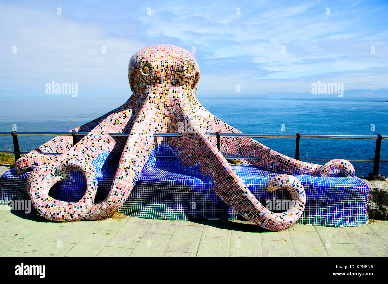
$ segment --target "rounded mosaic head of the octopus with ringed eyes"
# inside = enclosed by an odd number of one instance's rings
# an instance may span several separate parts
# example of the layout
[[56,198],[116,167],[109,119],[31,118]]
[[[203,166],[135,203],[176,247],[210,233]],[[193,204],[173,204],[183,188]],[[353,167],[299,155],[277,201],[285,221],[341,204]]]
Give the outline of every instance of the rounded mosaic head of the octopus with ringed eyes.
[[195,90],[199,80],[199,67],[184,48],[157,44],[132,55],[128,64],[128,80],[135,94],[152,85],[183,87],[191,91]]

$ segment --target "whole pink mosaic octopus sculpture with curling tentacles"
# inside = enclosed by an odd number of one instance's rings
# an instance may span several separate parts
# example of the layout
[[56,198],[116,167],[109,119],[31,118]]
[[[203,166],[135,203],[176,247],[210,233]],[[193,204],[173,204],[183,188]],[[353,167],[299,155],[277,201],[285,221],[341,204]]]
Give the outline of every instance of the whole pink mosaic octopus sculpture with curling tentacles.
[[[29,170],[28,196],[35,209],[48,220],[97,220],[111,216],[128,199],[136,178],[162,141],[168,141],[176,149],[184,167],[211,180],[214,193],[234,212],[273,231],[291,226],[306,207],[306,190],[298,177],[355,176],[352,164],[346,160],[335,159],[325,165],[304,163],[248,137],[221,137],[218,149],[216,138],[209,133],[242,132],[216,118],[198,102],[195,94],[199,67],[192,54],[183,48],[159,44],[139,50],[129,61],[128,80],[133,92],[130,98],[104,116],[71,130],[87,132],[85,136],[77,136],[75,144],[71,136],[58,136],[16,161],[18,174]],[[154,135],[164,133],[182,135]],[[97,201],[99,182],[94,161],[112,155],[120,156],[113,182],[106,197]],[[249,190],[225,156],[277,173],[267,178],[265,189],[267,192],[287,189],[293,200],[291,208],[281,213],[270,211]],[[81,171],[86,179],[82,198],[69,202],[51,197],[50,189],[69,178],[74,170]]]

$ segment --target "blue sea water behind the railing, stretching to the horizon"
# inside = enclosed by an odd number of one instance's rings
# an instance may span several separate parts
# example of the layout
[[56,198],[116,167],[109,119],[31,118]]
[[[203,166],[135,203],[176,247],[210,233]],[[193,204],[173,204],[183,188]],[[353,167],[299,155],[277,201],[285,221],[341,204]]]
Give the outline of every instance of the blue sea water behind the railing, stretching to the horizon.
[[[128,95],[129,96],[129,95]],[[126,95],[81,97],[52,95],[41,98],[0,98],[0,131],[68,131],[120,106]],[[244,133],[388,135],[388,95],[226,95],[197,94],[208,111]],[[374,125],[372,131],[371,125]],[[282,131],[282,128],[284,131]],[[20,136],[21,151],[30,151],[49,136]],[[290,157],[295,139],[256,139]],[[301,139],[300,159],[373,159],[376,140]],[[12,138],[0,135],[0,149],[12,151]],[[381,142],[381,160],[388,160],[388,140]],[[323,164],[326,161],[314,161]],[[352,162],[356,175],[372,171],[373,162]],[[388,176],[388,163],[380,163]]]

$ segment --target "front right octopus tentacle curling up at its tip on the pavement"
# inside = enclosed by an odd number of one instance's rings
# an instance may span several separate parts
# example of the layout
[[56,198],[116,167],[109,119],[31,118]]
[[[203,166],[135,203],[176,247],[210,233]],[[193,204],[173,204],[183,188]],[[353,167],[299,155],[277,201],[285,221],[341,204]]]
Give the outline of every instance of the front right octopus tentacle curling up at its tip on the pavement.
[[[185,92],[184,89],[180,91]],[[185,96],[182,97],[180,103],[184,102]],[[289,190],[291,189],[290,192],[296,206],[291,209],[291,213],[273,213],[265,208],[249,191],[228,161],[223,158],[222,153],[207,137],[197,120],[192,119],[191,114],[185,108],[177,108],[176,111],[180,112],[181,118],[187,119],[188,124],[193,129],[193,132],[182,133],[183,136],[180,139],[173,140],[175,148],[178,149],[180,161],[185,166],[209,177],[215,184],[214,192],[225,203],[234,208],[244,218],[274,231],[284,230],[298,220],[304,208],[305,194],[303,186],[296,178],[284,177],[287,178],[284,181],[284,186]],[[173,125],[173,130],[175,130],[174,128]],[[283,185],[283,180],[279,185],[273,182],[268,188],[277,189],[277,186],[281,185]]]

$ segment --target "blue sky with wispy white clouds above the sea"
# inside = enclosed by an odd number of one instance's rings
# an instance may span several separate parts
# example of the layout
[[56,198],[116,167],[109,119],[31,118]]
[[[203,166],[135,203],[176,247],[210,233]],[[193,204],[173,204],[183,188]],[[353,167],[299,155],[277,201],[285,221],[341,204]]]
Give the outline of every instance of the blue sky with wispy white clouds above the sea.
[[128,60],[157,43],[192,52],[197,94],[388,88],[387,15],[384,1],[0,2],[0,99],[52,81],[129,97]]

